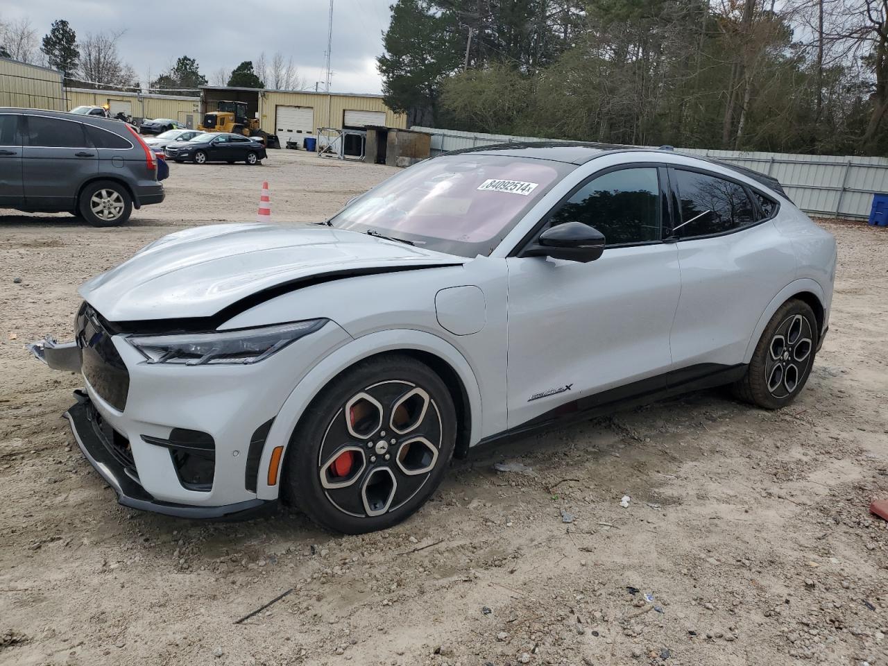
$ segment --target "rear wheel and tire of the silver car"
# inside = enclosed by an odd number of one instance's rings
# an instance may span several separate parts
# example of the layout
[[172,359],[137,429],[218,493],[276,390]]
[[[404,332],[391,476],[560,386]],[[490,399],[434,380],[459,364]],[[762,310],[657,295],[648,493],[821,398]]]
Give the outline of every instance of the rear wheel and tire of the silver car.
[[811,375],[817,339],[811,306],[795,298],[787,301],[765,326],[746,375],[733,385],[734,394],[765,409],[789,405]]

